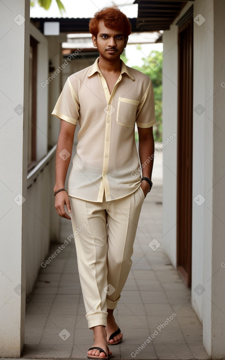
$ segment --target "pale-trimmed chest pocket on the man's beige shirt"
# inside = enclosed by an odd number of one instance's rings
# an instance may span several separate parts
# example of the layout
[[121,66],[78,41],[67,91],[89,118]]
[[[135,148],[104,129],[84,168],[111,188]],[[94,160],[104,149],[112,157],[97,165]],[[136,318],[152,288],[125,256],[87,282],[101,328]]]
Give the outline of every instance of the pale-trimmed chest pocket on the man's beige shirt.
[[119,98],[116,121],[122,126],[131,128],[134,126],[139,101]]

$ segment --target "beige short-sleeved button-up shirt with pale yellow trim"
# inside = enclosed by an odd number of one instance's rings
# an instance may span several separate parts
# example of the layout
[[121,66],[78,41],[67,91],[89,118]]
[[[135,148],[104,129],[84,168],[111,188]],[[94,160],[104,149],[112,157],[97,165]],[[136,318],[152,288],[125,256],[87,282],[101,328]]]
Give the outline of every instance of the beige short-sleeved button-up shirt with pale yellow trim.
[[52,112],[59,119],[79,123],[78,143],[68,180],[72,197],[102,202],[123,198],[140,186],[140,167],[134,137],[140,128],[155,124],[150,78],[122,61],[110,95],[98,59],[68,77]]

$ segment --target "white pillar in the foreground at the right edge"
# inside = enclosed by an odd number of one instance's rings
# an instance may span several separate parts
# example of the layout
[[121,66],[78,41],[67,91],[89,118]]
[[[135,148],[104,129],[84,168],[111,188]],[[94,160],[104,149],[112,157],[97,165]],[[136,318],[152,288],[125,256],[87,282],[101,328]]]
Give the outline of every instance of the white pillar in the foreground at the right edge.
[[225,357],[225,2],[206,1],[203,343]]

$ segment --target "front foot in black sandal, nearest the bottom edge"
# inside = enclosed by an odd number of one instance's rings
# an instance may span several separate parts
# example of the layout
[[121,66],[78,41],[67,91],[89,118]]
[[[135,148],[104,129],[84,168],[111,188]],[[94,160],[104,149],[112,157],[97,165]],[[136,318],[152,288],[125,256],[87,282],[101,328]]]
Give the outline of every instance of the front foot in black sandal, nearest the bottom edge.
[[[93,334],[93,340],[94,340],[94,344],[92,345],[92,347],[99,347],[102,350],[104,350],[106,352],[107,356],[112,355],[111,350],[109,349],[108,345],[107,345],[107,340],[106,340],[106,331],[104,326],[99,325],[99,326],[95,326],[93,328],[94,330],[94,334]],[[96,357],[100,357],[100,358],[105,358],[105,353],[100,352],[100,350],[98,349],[93,349],[93,350],[88,350],[87,352],[88,356],[96,356]]]

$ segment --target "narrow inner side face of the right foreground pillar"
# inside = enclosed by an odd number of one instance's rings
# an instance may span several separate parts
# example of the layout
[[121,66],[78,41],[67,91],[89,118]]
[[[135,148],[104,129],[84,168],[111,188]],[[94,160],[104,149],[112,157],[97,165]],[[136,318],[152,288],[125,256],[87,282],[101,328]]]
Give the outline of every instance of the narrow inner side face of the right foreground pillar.
[[[205,58],[205,98],[210,101],[205,103],[205,131],[204,138],[207,146],[204,149],[204,157],[207,159],[204,166],[204,195],[207,194],[204,204],[204,247],[203,247],[203,286],[205,291],[202,294],[203,298],[203,344],[206,351],[211,353],[211,328],[212,328],[212,307],[208,301],[211,298],[212,284],[210,278],[212,277],[212,183],[213,183],[213,27],[214,14],[212,1],[206,1],[205,10],[211,8],[207,14],[206,28],[205,28],[205,46],[208,48],[208,54]],[[210,49],[210,51],[209,51]],[[211,69],[210,69],[211,66]],[[210,71],[208,72],[208,70]],[[207,119],[209,117],[209,119]],[[211,119],[211,120],[210,120]],[[208,172],[208,174],[206,174]]]

